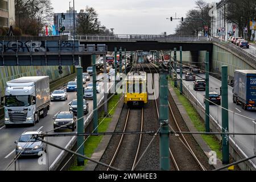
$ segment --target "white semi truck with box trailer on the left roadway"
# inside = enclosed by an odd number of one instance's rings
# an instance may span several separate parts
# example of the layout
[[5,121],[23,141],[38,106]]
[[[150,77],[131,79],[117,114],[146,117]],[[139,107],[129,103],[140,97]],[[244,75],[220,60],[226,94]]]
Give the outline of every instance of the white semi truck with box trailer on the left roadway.
[[20,77],[5,90],[5,126],[31,124],[47,115],[51,103],[49,76]]

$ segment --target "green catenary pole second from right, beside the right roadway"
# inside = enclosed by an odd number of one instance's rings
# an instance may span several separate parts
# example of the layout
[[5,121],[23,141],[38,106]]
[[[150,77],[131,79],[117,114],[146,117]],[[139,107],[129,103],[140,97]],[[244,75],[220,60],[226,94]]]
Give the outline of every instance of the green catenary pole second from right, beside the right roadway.
[[210,108],[209,108],[209,52],[205,54],[205,131],[210,132]]

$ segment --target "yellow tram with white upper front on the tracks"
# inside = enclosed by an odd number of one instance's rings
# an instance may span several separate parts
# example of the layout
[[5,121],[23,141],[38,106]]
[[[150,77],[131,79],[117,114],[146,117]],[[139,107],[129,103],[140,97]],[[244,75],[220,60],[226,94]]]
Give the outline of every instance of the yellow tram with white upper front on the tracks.
[[125,104],[143,106],[147,104],[147,73],[129,72],[126,76]]

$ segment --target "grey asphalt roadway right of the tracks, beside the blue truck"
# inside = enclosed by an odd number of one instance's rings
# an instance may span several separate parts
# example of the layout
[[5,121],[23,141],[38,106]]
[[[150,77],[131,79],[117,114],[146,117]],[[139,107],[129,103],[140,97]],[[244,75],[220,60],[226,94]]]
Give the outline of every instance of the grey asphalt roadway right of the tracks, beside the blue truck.
[[[200,73],[199,76],[205,77],[204,74]],[[199,78],[199,77],[197,77]],[[203,105],[204,104],[204,91],[193,90],[193,81],[185,81],[185,74],[183,74],[183,83],[190,92],[197,98],[197,100]],[[221,81],[214,77],[209,78],[209,91],[220,93]],[[241,105],[236,105],[233,103],[232,97],[232,87],[228,88],[229,95],[229,131],[236,133],[255,133],[255,122],[252,119],[256,119],[255,111],[245,111],[241,108]],[[238,115],[239,114],[239,115]],[[210,115],[221,125],[221,107],[216,105],[210,105]],[[248,118],[242,117],[244,115]],[[252,119],[249,119],[252,118]],[[238,144],[238,146],[245,152],[247,156],[254,155],[255,151],[255,138],[253,135],[236,135],[235,137],[230,135],[230,137]],[[252,159],[253,163],[256,164],[256,159]]]

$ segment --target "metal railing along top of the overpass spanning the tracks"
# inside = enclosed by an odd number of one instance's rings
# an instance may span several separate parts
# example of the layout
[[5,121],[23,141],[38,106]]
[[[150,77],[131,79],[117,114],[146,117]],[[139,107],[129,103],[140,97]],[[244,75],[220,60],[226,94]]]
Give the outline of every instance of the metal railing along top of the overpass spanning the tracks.
[[81,41],[137,41],[137,40],[160,40],[177,42],[205,42],[209,41],[204,36],[173,36],[173,35],[137,35],[137,34],[114,34],[114,35],[75,35],[75,40]]

